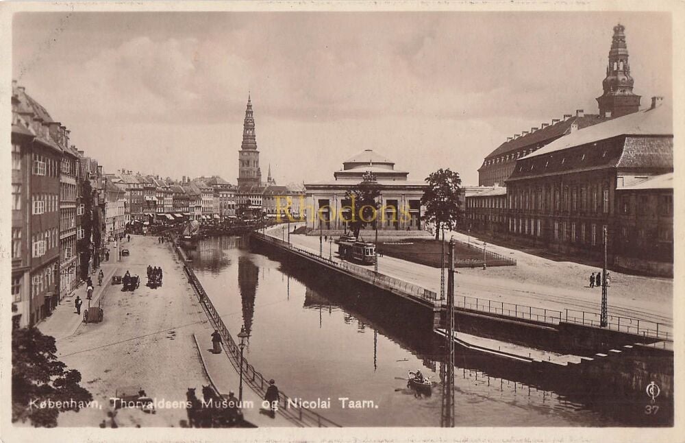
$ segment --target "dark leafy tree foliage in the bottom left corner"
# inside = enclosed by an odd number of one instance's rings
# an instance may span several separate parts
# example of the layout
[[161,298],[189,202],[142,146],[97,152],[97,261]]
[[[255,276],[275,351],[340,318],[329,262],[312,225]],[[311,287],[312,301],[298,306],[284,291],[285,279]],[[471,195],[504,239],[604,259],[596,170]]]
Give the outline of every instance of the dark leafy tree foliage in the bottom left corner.
[[[79,411],[82,402],[92,400],[79,385],[81,373],[66,370],[56,350],[55,338],[37,328],[12,331],[12,422],[31,420],[35,427],[55,427],[60,412]],[[49,400],[62,405],[39,407]]]

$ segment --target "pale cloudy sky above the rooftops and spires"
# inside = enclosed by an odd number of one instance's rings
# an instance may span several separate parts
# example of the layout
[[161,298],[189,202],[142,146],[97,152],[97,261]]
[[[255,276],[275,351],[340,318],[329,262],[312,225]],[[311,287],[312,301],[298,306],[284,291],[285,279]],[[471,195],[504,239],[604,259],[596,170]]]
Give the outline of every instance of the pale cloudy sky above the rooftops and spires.
[[21,12],[12,75],[107,172],[235,184],[251,93],[264,179],[373,149],[477,184],[507,136],[597,113],[619,22],[642,105],[671,101],[671,15],[649,12]]

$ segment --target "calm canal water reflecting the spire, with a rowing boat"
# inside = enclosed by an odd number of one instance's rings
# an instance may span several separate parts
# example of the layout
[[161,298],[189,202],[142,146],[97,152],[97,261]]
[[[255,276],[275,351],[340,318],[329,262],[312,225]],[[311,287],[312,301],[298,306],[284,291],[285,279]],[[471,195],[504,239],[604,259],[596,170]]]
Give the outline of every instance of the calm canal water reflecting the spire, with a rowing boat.
[[[432,318],[382,291],[251,250],[240,237],[202,240],[188,255],[231,334],[245,325],[245,358],[288,396],[343,426],[440,426],[444,352]],[[656,424],[640,416],[644,405],[623,404],[601,386],[457,352],[457,426]],[[407,387],[418,369],[436,382],[431,396]]]

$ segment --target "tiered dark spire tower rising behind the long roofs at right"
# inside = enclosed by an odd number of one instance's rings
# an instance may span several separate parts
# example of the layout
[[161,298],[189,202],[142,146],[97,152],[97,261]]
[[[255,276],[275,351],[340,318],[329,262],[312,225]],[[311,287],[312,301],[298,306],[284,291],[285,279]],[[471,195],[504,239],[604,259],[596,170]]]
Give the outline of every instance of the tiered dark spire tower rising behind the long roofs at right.
[[640,96],[633,93],[624,29],[620,23],[614,26],[609,65],[606,68],[606,78],[602,82],[604,93],[597,97],[601,117],[621,117],[637,112],[640,107]]

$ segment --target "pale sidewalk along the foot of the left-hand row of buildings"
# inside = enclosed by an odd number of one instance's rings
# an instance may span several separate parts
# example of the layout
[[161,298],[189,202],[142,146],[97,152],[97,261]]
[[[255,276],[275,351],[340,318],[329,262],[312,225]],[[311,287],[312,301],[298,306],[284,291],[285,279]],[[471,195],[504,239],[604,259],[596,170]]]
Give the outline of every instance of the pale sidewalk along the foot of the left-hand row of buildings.
[[[102,280],[102,286],[97,285],[97,274],[91,277],[95,285],[92,292],[92,300],[86,299],[86,285],[82,284],[74,291],[71,291],[71,294],[67,294],[62,298],[62,301],[52,312],[52,315],[38,324],[38,330],[45,335],[52,335],[58,340],[73,335],[79,326],[84,324],[84,311],[88,309],[88,301],[90,301],[91,306],[97,306],[98,300],[105,294],[105,290],[110,287],[112,275],[114,275],[118,267],[119,262],[116,261],[113,263],[101,263],[101,269],[105,277]],[[80,315],[77,315],[74,306],[76,296],[80,296],[83,300]]]

